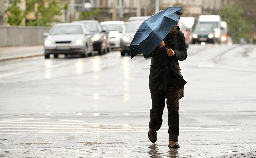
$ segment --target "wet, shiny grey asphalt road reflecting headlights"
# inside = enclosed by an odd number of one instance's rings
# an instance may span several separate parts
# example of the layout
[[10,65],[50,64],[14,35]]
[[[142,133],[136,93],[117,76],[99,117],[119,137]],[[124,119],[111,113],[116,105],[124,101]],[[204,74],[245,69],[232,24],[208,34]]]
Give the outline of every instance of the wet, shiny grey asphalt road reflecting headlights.
[[168,148],[167,109],[157,142],[147,137],[150,59],[0,62],[0,157],[253,157],[255,48],[190,45],[179,149]]

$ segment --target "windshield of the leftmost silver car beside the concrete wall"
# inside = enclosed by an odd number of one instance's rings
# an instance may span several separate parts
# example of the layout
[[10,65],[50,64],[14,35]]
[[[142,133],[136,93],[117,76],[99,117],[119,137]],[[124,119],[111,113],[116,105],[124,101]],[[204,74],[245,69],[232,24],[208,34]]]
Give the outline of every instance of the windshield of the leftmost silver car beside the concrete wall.
[[82,34],[81,26],[76,25],[66,25],[66,26],[55,26],[50,34]]

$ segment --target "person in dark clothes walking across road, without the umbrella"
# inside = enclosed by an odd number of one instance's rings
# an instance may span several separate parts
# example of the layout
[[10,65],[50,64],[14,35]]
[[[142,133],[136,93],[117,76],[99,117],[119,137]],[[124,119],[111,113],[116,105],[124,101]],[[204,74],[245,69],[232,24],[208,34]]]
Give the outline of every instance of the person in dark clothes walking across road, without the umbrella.
[[153,143],[157,141],[157,131],[163,122],[163,109],[166,100],[169,126],[168,146],[180,148],[178,144],[178,100],[183,97],[183,87],[187,82],[180,73],[178,60],[182,61],[187,58],[187,48],[184,34],[179,30],[178,23],[150,55],[143,54],[143,56],[146,59],[152,57],[149,74],[152,108],[150,110],[148,138]]

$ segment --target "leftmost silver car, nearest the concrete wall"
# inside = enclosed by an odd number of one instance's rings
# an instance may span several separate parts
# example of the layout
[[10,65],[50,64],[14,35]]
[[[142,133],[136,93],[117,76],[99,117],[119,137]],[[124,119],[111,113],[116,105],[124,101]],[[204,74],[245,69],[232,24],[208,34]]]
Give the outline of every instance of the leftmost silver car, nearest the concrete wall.
[[50,54],[58,58],[59,54],[81,54],[81,57],[87,57],[93,53],[92,33],[84,24],[55,24],[44,36],[45,59],[50,58]]

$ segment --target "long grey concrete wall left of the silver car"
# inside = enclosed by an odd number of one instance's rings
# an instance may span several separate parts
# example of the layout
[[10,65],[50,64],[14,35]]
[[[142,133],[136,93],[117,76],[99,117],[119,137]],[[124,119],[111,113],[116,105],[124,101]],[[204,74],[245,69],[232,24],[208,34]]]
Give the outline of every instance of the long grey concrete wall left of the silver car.
[[0,47],[43,45],[43,33],[51,27],[0,26]]

